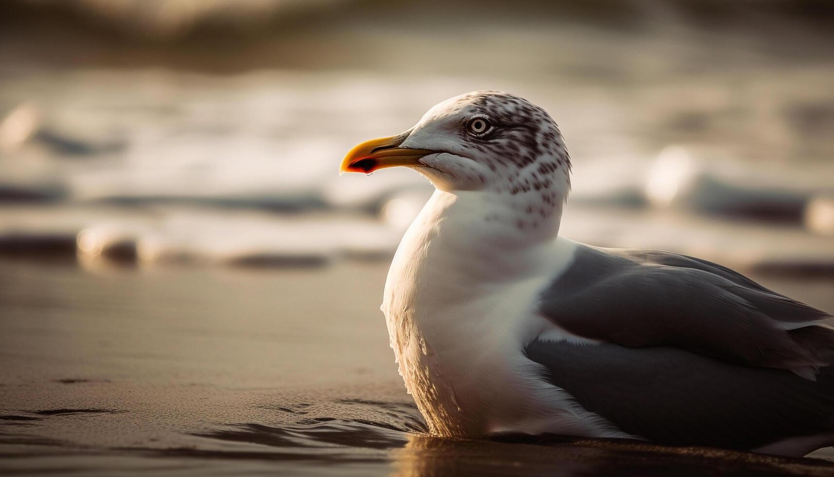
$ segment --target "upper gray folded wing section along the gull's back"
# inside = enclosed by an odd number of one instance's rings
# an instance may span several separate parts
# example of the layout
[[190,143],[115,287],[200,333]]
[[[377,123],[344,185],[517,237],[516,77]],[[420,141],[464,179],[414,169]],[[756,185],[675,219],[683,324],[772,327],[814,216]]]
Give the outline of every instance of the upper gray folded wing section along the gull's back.
[[580,245],[540,298],[543,316],[605,343],[672,346],[806,378],[834,359],[834,332],[798,332],[826,312],[689,256]]

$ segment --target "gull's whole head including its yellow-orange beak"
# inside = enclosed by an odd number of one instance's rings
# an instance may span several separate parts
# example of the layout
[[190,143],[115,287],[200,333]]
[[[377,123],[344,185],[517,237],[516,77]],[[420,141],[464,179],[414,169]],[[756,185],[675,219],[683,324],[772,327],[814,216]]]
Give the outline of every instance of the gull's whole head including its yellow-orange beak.
[[340,172],[404,166],[446,191],[570,191],[570,157],[550,114],[515,94],[474,91],[435,105],[402,134],[356,145]]

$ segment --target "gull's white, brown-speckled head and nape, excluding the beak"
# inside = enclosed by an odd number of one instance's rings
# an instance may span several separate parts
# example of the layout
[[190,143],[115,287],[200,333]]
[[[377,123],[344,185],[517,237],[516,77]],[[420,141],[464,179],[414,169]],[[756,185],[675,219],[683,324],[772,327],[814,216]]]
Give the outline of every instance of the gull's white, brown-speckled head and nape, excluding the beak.
[[[438,190],[479,191],[485,222],[553,235],[570,193],[570,156],[544,109],[515,94],[475,91],[429,109],[399,145],[428,150],[415,167]],[[492,210],[490,210],[492,207]]]

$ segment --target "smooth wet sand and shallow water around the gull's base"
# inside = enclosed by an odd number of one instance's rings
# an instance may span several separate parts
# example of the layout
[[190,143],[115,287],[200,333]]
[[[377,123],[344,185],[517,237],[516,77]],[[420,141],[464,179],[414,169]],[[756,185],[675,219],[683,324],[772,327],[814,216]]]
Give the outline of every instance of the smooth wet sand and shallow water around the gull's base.
[[[355,263],[252,271],[0,261],[0,469],[834,475],[826,460],[716,449],[433,438],[388,348],[377,311],[384,274],[382,264]],[[834,306],[830,279],[764,282]]]

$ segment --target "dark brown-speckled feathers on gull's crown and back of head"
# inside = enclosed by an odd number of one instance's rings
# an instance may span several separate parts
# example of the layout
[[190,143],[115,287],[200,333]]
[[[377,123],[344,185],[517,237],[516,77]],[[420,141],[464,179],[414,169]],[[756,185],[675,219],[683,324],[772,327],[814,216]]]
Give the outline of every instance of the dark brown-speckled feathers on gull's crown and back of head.
[[570,155],[544,109],[500,91],[477,91],[461,97],[460,103],[468,104],[470,118],[490,121],[490,132],[483,136],[467,134],[465,128],[459,134],[490,170],[513,172],[507,176],[507,192],[547,190],[560,175],[570,184]]

